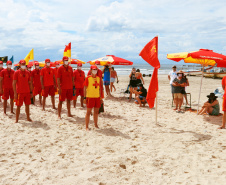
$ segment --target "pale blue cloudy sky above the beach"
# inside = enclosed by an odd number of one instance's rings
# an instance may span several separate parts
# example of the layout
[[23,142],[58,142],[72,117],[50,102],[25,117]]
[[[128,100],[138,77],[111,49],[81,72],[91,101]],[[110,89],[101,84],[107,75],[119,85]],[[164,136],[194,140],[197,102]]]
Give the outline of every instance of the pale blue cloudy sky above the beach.
[[141,49],[159,36],[167,53],[212,49],[226,55],[225,0],[0,0],[0,56],[94,60],[106,54],[143,62]]

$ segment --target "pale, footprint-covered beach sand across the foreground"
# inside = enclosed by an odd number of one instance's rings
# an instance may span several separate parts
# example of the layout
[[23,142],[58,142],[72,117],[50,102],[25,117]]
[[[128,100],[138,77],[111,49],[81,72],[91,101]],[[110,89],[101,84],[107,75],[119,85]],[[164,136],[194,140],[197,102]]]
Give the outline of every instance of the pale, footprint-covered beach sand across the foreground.
[[[200,79],[189,77],[192,108]],[[60,121],[48,98],[45,112],[31,106],[32,123],[23,106],[17,124],[14,115],[3,116],[0,103],[0,184],[225,184],[226,130],[217,129],[222,115],[176,113],[167,75],[159,75],[155,124],[155,109],[128,102],[120,93],[128,77],[119,80],[115,98],[104,100],[100,129],[91,118],[90,132],[80,103],[73,118],[64,103]],[[145,77],[146,88],[149,82]],[[220,86],[221,80],[204,78],[201,103]]]

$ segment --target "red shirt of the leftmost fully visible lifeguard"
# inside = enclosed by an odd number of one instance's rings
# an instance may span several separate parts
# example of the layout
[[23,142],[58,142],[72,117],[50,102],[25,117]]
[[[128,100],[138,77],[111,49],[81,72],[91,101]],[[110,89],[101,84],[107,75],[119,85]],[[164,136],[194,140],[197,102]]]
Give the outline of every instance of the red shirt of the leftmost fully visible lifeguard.
[[2,87],[4,89],[12,89],[13,88],[13,75],[14,70],[10,69],[9,71],[7,69],[4,69],[0,72],[0,77],[3,78],[3,84]]

